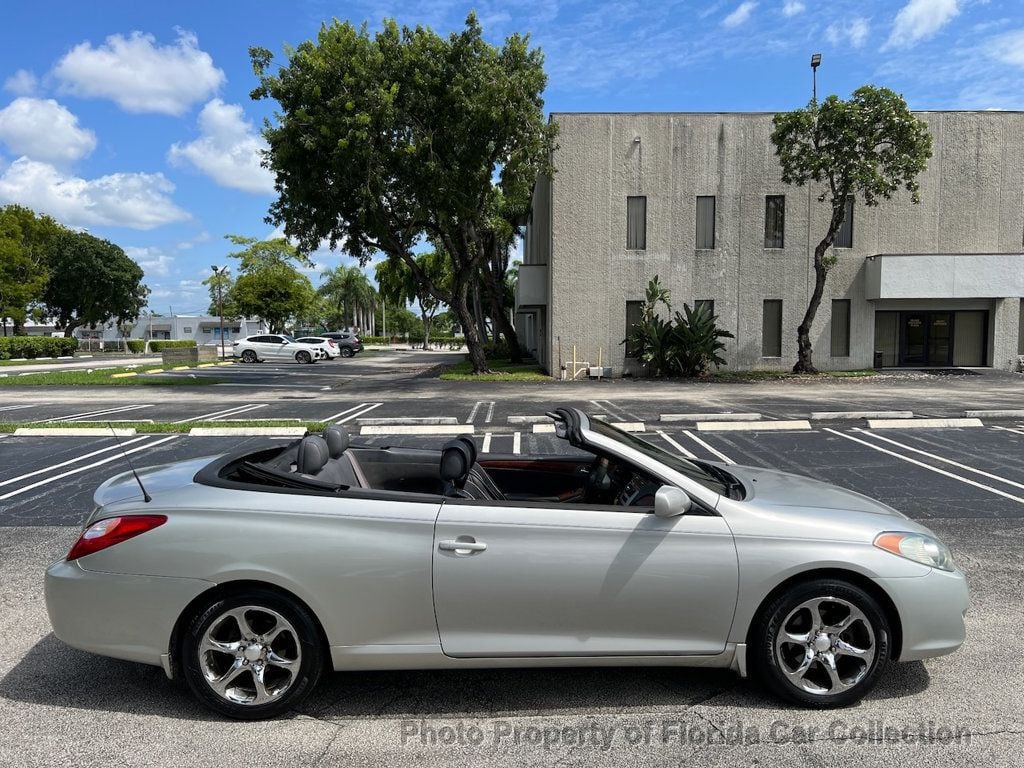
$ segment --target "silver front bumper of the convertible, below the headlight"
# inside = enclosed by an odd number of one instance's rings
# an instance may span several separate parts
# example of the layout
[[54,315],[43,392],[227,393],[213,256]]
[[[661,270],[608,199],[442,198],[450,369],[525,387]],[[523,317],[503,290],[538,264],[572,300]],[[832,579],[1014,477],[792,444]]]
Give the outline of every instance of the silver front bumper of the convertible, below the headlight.
[[932,568],[923,577],[874,581],[899,612],[903,629],[900,662],[952,653],[964,643],[964,614],[971,606],[971,597],[959,570]]

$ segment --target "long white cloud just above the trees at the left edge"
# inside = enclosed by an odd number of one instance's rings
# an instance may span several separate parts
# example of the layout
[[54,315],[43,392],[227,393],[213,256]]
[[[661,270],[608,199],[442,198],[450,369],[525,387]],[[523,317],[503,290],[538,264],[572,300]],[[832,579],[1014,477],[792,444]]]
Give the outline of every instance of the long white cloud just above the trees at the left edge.
[[48,213],[70,226],[152,229],[189,218],[170,199],[162,173],[112,173],[84,179],[48,163],[19,158],[0,175],[0,200]]

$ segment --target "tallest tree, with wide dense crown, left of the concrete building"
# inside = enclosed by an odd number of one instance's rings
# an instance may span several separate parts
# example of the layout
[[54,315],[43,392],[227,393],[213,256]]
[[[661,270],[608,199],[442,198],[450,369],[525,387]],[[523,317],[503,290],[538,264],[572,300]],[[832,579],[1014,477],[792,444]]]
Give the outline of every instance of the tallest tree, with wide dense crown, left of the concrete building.
[[[250,53],[253,97],[280,104],[264,130],[280,196],[269,220],[306,250],[326,239],[364,262],[375,252],[401,259],[453,308],[473,369],[485,371],[467,299],[493,253],[496,179],[520,200],[552,172],[540,49],[520,35],[488,44],[470,13],[447,37],[394,20],[372,36],[335,20],[275,74],[270,51]],[[450,290],[416,263],[424,239],[451,259]]]

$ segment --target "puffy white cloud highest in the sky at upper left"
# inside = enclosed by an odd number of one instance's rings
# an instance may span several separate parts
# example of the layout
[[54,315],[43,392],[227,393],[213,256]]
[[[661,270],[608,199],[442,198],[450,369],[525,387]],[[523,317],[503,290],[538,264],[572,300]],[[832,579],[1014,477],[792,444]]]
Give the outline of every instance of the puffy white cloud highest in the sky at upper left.
[[110,98],[127,112],[181,115],[223,84],[224,73],[200,50],[189,32],[158,45],[153,35],[111,35],[95,48],[79,43],[57,61],[53,74],[79,96]]

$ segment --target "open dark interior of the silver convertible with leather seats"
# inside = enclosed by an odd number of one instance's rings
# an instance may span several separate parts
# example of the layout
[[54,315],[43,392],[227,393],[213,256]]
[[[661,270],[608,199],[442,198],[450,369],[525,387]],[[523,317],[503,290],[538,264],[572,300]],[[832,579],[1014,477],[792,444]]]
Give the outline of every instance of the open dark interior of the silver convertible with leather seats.
[[341,426],[284,446],[251,450],[210,469],[210,484],[292,488],[326,495],[349,489],[429,494],[451,500],[650,507],[662,482],[607,456],[480,458],[469,437],[440,450],[353,445]]

